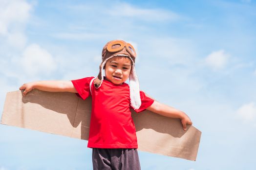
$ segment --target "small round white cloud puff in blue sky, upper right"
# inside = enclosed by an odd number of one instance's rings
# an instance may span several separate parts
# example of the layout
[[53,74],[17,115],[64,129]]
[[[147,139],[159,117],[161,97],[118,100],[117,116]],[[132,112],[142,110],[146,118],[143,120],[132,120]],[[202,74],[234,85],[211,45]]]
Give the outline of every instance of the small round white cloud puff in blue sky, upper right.
[[206,57],[205,62],[213,70],[217,70],[224,68],[228,63],[229,58],[229,54],[227,54],[224,50],[219,50],[213,51],[211,54],[209,54]]

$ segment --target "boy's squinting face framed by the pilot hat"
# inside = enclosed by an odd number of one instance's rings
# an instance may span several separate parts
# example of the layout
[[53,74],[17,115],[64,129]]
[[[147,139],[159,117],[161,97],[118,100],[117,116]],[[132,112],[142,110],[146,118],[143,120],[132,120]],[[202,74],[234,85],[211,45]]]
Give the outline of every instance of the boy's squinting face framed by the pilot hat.
[[107,60],[106,79],[115,85],[121,85],[129,78],[131,61],[128,57],[116,56]]

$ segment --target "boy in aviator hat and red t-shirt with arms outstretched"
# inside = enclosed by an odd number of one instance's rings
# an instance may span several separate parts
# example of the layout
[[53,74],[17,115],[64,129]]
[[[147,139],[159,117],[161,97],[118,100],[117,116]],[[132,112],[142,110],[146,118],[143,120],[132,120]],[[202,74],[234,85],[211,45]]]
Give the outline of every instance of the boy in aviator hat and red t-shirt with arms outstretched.
[[[93,170],[140,170],[136,130],[130,108],[145,109],[181,119],[183,129],[192,124],[182,111],[154,101],[139,90],[135,71],[136,52],[123,40],[108,42],[102,51],[99,75],[72,81],[39,81],[24,84],[26,95],[34,88],[72,92],[82,99],[92,96],[88,147],[92,148]],[[105,77],[102,74],[105,69]],[[129,85],[125,83],[129,78]]]

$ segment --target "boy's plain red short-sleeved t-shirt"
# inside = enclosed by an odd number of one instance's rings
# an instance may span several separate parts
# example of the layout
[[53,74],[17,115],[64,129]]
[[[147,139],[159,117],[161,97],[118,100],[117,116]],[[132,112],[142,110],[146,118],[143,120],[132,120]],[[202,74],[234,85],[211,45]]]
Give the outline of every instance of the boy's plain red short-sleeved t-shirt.
[[[90,81],[93,77],[72,80],[78,96],[85,100],[92,96],[92,110],[89,131],[89,148],[138,148],[136,130],[130,112],[129,85],[115,85],[103,80],[96,89]],[[91,94],[92,93],[92,94]],[[140,91],[139,113],[148,108],[154,100]]]

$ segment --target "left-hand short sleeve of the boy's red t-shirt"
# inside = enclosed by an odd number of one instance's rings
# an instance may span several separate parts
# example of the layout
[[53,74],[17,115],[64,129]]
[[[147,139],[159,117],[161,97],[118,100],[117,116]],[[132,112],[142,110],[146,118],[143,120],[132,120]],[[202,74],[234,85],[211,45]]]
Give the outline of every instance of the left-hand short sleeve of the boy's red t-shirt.
[[90,92],[90,81],[94,77],[85,77],[83,79],[77,79],[77,80],[71,80],[74,87],[76,88],[77,92],[76,95],[83,100],[85,100],[87,97],[91,96]]

